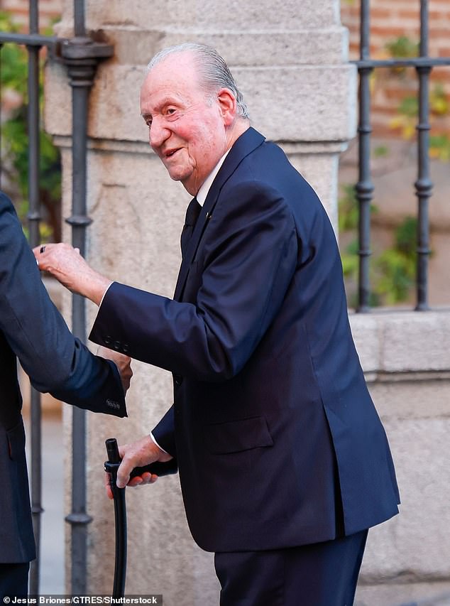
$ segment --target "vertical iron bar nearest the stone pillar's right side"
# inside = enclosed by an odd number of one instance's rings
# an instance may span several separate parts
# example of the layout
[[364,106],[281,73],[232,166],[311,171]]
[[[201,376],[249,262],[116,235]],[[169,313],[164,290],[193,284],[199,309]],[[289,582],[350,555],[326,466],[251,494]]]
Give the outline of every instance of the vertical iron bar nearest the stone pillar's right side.
[[[361,60],[370,58],[370,6],[369,0],[361,0]],[[358,306],[356,311],[367,312],[371,285],[369,278],[369,257],[371,256],[371,89],[372,67],[359,68],[359,123],[358,123],[358,183],[356,198],[359,205],[358,225]]]

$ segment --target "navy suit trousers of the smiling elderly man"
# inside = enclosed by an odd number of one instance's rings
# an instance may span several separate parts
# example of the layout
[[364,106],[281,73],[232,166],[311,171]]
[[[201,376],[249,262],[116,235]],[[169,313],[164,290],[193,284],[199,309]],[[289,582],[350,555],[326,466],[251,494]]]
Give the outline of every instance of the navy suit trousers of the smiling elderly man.
[[216,553],[220,606],[351,606],[367,533],[276,551]]

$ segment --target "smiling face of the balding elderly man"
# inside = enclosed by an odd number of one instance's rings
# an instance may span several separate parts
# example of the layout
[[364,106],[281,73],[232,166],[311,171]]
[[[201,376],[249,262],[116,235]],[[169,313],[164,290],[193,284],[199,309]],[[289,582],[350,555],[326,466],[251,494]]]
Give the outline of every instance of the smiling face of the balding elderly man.
[[191,195],[236,139],[236,99],[227,89],[207,94],[191,51],[172,53],[150,70],[141,114],[153,151]]

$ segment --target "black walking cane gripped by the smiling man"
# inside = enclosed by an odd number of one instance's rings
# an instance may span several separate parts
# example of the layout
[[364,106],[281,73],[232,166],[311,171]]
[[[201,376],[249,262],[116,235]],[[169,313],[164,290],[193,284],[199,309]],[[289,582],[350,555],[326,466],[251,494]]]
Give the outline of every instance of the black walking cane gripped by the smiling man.
[[[109,474],[109,485],[114,499],[114,523],[116,527],[116,561],[114,563],[114,586],[112,597],[124,597],[126,578],[126,503],[125,488],[116,485],[117,470],[121,464],[119,447],[116,438],[108,438],[105,442],[108,460],[104,463],[104,470]],[[155,461],[150,465],[135,467],[130,477],[142,475],[145,472],[158,476],[177,472],[177,462],[172,459],[168,462]]]

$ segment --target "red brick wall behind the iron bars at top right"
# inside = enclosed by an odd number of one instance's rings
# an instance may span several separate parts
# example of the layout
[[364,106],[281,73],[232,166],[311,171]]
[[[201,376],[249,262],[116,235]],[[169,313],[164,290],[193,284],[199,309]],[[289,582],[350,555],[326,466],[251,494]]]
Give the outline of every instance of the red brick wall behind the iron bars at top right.
[[[372,58],[389,58],[391,55],[386,45],[400,36],[419,42],[419,4],[419,0],[371,0]],[[359,5],[359,0],[341,0],[341,20],[350,33],[351,59],[359,56]],[[450,57],[450,0],[429,0],[429,55]],[[439,87],[442,87],[444,96],[437,94]],[[434,67],[430,90],[432,99],[436,99],[432,103],[432,134],[450,134],[450,66]],[[403,125],[396,128],[393,124],[402,99],[417,92],[414,69],[393,72],[378,68],[374,71],[372,92],[375,135],[400,134],[414,122],[414,119],[404,120]]]

